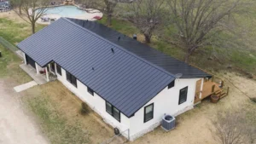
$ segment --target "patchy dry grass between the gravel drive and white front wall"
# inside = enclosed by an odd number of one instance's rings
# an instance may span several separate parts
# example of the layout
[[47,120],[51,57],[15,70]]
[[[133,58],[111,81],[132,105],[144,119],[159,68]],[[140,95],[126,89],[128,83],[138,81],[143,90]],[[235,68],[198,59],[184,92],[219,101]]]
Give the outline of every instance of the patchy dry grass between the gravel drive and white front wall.
[[81,102],[55,81],[26,91],[24,101],[32,109],[52,143],[101,143],[113,136],[95,112],[81,114]]

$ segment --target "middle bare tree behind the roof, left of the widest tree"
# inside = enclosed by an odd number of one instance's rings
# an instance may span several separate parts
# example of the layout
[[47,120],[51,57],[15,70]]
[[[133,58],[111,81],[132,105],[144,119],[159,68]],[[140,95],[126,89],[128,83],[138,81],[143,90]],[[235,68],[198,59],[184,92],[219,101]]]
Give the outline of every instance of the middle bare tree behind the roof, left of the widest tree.
[[160,26],[164,2],[164,0],[137,0],[129,4],[128,19],[143,33],[146,43],[151,42],[154,31]]

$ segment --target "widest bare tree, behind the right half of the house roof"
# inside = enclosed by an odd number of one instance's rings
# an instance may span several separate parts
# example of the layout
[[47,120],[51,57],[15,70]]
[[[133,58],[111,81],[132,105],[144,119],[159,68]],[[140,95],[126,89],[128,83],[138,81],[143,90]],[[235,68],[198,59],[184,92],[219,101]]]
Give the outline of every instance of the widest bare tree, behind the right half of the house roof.
[[169,18],[177,28],[172,43],[186,49],[184,61],[196,49],[215,42],[221,32],[230,31],[230,18],[240,13],[242,0],[167,0]]

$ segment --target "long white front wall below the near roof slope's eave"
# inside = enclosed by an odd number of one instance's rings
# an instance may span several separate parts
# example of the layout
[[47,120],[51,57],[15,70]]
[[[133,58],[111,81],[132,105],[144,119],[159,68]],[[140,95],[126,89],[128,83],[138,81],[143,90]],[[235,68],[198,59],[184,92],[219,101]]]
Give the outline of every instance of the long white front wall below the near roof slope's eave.
[[[56,70],[56,68],[55,68]],[[95,112],[97,112],[100,116],[102,116],[103,120],[113,126],[113,128],[119,128],[120,132],[125,131],[123,135],[128,137],[128,129],[130,127],[130,120],[123,113],[120,113],[120,122],[113,118],[108,112],[106,112],[106,101],[102,99],[101,96],[94,93],[94,95],[90,95],[87,91],[87,87],[82,84],[79,80],[77,80],[77,88],[70,84],[66,78],[66,71],[61,68],[61,75],[58,72],[55,72],[58,80],[64,84],[67,89],[71,90],[73,94],[77,95],[79,99],[86,102],[88,106],[90,106]]]

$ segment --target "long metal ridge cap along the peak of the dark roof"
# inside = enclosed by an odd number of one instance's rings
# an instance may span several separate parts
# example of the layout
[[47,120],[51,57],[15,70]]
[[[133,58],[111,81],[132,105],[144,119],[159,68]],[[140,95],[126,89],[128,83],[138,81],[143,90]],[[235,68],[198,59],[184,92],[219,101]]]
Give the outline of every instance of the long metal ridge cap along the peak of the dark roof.
[[95,35],[96,37],[99,37],[99,38],[101,38],[102,40],[106,41],[107,43],[111,43],[111,44],[113,44],[115,47],[117,47],[117,48],[123,50],[125,53],[136,57],[138,60],[142,60],[143,62],[147,63],[147,64],[150,65],[150,66],[153,66],[154,68],[158,69],[159,71],[165,72],[166,74],[172,76],[173,78],[176,78],[176,77],[174,76],[174,74],[172,74],[171,72],[167,72],[165,69],[161,68],[160,66],[157,66],[157,65],[155,65],[154,63],[152,63],[152,62],[150,62],[150,61],[148,61],[148,60],[144,60],[143,58],[141,58],[141,57],[139,57],[139,56],[137,56],[137,55],[131,53],[130,51],[128,51],[128,50],[122,48],[121,46],[117,45],[116,43],[113,43],[113,42],[109,41],[108,39],[106,39],[106,38],[104,38],[104,37],[102,37],[102,36],[97,35],[95,32],[91,32],[90,30],[88,30],[88,29],[86,29],[86,28],[84,28],[84,27],[82,27],[82,26],[79,26],[78,24],[74,23],[72,20],[68,20],[67,18],[61,18],[61,19],[66,20],[67,22],[73,24],[74,26],[78,26],[79,28],[83,29],[83,30],[86,31],[86,32],[90,32],[91,34]]

